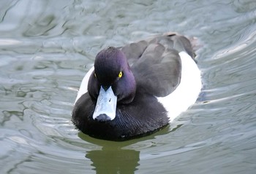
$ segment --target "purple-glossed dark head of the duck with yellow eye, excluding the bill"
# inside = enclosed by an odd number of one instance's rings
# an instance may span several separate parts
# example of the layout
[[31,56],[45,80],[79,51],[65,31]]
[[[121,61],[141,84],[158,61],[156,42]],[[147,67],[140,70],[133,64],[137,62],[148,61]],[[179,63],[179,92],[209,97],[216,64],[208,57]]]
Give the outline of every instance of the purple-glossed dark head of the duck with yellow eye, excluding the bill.
[[130,103],[136,92],[135,77],[121,50],[108,47],[100,51],[94,61],[94,74],[89,79],[89,94],[97,100],[100,87],[112,87],[118,103]]

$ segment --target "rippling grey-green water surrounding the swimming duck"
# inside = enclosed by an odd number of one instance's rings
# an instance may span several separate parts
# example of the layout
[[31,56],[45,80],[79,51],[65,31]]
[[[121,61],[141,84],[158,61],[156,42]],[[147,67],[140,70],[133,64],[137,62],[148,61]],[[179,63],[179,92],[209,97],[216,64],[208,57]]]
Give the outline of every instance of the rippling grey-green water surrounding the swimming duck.
[[[4,1],[0,173],[255,173],[256,2]],[[104,47],[196,36],[198,102],[154,135],[109,142],[70,122]]]

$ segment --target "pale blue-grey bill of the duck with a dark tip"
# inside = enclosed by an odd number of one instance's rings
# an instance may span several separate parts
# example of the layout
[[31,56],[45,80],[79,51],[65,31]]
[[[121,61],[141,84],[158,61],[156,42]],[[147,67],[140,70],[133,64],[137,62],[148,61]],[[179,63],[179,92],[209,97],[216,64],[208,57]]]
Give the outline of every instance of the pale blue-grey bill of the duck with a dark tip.
[[106,91],[100,87],[99,96],[97,98],[97,103],[92,118],[100,122],[115,119],[116,103],[117,97],[114,94],[112,87],[109,87]]

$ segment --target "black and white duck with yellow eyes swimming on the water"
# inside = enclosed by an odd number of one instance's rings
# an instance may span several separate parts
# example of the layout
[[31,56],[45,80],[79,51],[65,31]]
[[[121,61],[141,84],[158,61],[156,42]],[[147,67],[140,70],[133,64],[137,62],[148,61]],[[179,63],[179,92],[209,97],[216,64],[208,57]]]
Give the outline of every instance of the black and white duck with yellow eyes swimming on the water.
[[165,33],[107,47],[80,84],[72,122],[93,138],[138,138],[187,111],[201,87],[195,50],[186,36]]

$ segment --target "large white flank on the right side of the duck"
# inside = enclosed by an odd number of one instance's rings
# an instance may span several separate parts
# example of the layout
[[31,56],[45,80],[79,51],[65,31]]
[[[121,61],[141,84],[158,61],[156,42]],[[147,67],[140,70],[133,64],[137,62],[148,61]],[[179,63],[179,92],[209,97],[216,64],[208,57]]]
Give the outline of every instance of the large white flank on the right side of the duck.
[[170,95],[157,98],[168,111],[170,122],[195,103],[202,87],[200,70],[195,61],[187,52],[179,52],[178,55],[181,57],[181,82]]

